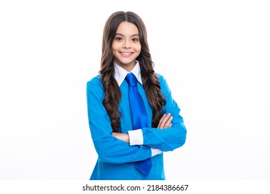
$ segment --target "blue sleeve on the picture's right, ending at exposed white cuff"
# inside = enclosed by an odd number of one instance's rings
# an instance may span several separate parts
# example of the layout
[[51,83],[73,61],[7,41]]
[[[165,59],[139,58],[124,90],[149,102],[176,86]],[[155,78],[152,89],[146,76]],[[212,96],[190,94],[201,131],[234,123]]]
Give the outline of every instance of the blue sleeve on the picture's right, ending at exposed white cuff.
[[186,142],[186,127],[180,115],[180,108],[172,98],[171,91],[163,76],[159,75],[161,91],[166,99],[165,113],[173,116],[172,127],[164,130],[156,128],[143,128],[143,145],[163,151],[172,151]]

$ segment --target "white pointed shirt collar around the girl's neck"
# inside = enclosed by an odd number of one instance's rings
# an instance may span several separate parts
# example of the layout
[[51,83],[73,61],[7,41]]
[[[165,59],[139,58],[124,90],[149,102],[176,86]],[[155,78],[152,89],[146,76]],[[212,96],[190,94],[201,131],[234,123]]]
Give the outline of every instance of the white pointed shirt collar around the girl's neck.
[[[129,72],[126,71],[125,69],[123,69],[122,67],[120,67],[118,64],[114,63],[114,78],[118,82],[119,86],[125,80],[125,76],[127,76],[127,73],[129,73]],[[136,76],[138,82],[140,82],[141,85],[143,85],[143,81],[141,80],[140,64],[138,63],[137,60],[136,60],[136,64],[135,64],[134,68],[132,69],[131,73],[133,73]]]

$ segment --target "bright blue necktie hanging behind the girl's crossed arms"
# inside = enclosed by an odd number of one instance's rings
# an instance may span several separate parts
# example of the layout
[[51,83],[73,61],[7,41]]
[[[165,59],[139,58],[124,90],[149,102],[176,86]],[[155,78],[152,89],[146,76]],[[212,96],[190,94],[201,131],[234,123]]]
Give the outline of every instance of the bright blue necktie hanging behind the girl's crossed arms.
[[[136,76],[134,76],[133,73],[127,73],[125,80],[129,85],[129,102],[132,109],[133,130],[147,127],[147,112],[143,103],[143,98],[141,98],[141,95],[138,93]],[[136,161],[135,166],[143,173],[143,175],[148,175],[152,167],[151,158]]]

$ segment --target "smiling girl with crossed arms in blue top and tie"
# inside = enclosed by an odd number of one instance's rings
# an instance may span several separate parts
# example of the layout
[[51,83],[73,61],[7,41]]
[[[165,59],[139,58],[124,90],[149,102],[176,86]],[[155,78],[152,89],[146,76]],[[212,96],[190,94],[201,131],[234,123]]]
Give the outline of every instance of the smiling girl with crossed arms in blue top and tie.
[[[98,153],[90,179],[165,179],[163,152],[185,143],[186,127],[165,78],[153,68],[141,17],[114,12],[103,32],[100,75],[87,82],[89,127]],[[126,78],[131,75],[138,80],[139,105],[132,104],[136,95]],[[136,108],[145,114],[134,118]]]

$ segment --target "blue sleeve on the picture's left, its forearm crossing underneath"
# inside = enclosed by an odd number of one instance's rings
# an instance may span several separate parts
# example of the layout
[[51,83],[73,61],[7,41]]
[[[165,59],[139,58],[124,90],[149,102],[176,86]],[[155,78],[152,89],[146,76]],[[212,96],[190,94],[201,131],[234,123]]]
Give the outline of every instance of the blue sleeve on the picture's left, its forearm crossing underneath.
[[151,150],[144,145],[131,146],[111,135],[111,121],[102,105],[104,90],[100,78],[87,82],[87,109],[93,144],[101,161],[121,164],[141,161],[151,157]]

